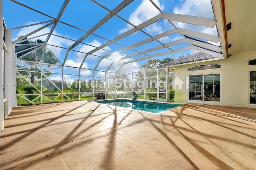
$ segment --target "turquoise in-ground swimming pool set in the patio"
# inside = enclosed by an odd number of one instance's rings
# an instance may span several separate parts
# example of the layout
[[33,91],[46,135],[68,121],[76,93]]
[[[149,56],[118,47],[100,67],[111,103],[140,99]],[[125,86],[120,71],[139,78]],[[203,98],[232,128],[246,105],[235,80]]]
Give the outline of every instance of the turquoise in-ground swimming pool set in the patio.
[[120,106],[131,108],[135,110],[148,111],[152,113],[162,113],[174,107],[182,106],[182,104],[166,104],[158,102],[146,102],[140,100],[128,100],[128,99],[114,99],[114,100],[102,100],[98,103],[108,104],[112,106]]

